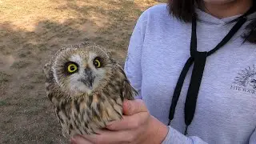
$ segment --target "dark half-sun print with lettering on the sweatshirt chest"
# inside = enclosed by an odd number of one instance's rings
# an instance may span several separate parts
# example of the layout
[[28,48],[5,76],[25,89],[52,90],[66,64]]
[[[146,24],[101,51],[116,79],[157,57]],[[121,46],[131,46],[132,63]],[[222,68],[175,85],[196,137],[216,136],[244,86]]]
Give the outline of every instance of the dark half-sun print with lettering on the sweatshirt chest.
[[256,67],[253,65],[240,71],[238,76],[234,78],[233,84],[230,87],[232,90],[256,94]]

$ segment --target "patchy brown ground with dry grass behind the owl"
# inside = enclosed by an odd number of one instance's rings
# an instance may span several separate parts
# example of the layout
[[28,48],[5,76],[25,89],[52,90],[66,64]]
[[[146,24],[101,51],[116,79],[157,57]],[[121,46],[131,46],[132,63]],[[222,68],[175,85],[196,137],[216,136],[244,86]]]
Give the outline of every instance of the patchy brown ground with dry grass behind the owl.
[[0,143],[67,143],[46,98],[42,66],[62,46],[92,41],[125,58],[154,0],[0,0]]

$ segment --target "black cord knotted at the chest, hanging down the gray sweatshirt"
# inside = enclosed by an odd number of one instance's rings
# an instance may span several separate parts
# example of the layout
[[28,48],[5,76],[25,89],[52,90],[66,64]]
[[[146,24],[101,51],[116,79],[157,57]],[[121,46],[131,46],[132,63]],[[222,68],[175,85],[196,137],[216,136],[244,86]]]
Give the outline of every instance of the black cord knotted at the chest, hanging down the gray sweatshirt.
[[198,91],[202,82],[202,75],[204,71],[204,67],[206,64],[206,58],[210,54],[214,54],[217,50],[219,50],[222,46],[229,42],[230,39],[237,33],[237,31],[242,27],[242,25],[246,22],[246,16],[251,14],[255,11],[254,6],[250,8],[243,14],[241,17],[238,18],[238,22],[232,27],[230,32],[226,34],[226,37],[222,39],[222,42],[219,42],[217,46],[213,50],[209,52],[199,52],[197,50],[197,34],[196,34],[196,18],[192,20],[192,30],[191,30],[191,42],[190,42],[190,58],[186,61],[185,66],[182,69],[182,73],[178,78],[178,82],[176,84],[174,95],[172,98],[171,106],[170,106],[170,113],[169,113],[169,122],[174,118],[175,108],[178,103],[178,98],[182,90],[183,82],[186,78],[186,74],[190,69],[190,66],[194,62],[194,68],[192,71],[191,79],[190,79],[190,86],[186,95],[186,102],[185,102],[185,123],[186,123],[186,130],[185,135],[187,134],[188,126],[192,122],[194,118],[194,111],[196,108],[196,102],[198,98]]

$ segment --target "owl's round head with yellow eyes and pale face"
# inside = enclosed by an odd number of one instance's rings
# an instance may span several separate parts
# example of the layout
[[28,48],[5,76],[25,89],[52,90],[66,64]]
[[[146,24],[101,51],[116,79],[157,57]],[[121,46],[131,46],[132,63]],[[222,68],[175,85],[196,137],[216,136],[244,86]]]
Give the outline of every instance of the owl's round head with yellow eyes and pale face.
[[99,46],[67,47],[54,56],[54,81],[70,94],[90,94],[111,73],[114,62]]

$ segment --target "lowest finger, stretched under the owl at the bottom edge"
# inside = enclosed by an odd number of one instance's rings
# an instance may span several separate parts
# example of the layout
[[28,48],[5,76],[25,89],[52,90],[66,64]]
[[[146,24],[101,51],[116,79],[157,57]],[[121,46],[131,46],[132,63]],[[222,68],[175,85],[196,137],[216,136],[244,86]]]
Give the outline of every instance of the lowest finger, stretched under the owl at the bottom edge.
[[134,140],[134,134],[130,131],[100,130],[99,134],[82,135],[88,141],[97,144],[119,144],[128,143]]

